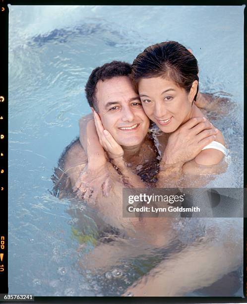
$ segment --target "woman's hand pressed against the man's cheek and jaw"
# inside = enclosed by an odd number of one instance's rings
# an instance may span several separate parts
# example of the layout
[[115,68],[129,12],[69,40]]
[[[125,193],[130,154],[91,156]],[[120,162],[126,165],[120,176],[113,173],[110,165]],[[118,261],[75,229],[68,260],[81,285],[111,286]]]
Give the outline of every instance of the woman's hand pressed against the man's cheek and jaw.
[[104,129],[99,115],[94,110],[93,115],[101,146],[105,149],[111,159],[123,157],[124,150],[115,141],[110,132]]

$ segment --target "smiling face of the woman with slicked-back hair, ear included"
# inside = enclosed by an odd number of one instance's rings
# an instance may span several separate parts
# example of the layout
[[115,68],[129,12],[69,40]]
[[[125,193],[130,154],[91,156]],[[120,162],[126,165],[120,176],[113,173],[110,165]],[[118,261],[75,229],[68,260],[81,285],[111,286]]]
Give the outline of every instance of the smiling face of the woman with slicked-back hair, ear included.
[[196,89],[196,80],[189,93],[167,78],[142,78],[138,82],[146,115],[165,133],[174,132],[191,117]]

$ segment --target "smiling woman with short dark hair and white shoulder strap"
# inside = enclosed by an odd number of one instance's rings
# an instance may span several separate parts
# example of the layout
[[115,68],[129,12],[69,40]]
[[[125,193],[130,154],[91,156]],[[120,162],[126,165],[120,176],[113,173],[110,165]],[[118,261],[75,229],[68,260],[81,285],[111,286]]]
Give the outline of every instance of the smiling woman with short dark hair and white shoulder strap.
[[[134,60],[130,77],[146,115],[162,132],[171,134],[189,119],[204,116],[195,105],[199,81],[197,60],[178,42],[167,41],[146,48]],[[218,164],[225,153],[224,138],[218,132],[215,141],[183,169],[193,173],[197,165]],[[165,160],[163,155],[161,168]]]

